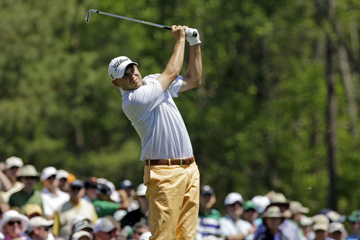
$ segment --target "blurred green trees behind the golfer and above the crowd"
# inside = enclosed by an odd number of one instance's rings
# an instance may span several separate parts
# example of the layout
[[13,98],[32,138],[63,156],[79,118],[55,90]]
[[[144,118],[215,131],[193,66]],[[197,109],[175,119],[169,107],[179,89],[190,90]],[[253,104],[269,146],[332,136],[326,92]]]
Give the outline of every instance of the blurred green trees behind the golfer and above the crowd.
[[141,142],[107,68],[125,55],[143,77],[161,73],[175,39],[100,14],[86,23],[89,9],[199,31],[202,85],[174,100],[216,208],[230,192],[270,190],[312,213],[359,206],[355,0],[2,0],[0,161],[143,181]]

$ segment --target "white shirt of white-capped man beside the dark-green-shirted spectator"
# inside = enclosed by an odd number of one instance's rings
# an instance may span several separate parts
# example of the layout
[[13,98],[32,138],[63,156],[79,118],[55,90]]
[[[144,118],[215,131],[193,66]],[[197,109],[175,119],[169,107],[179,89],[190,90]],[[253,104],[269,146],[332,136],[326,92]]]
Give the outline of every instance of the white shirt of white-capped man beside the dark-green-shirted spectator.
[[64,203],[68,202],[70,195],[64,193],[60,189],[56,189],[56,194],[50,193],[50,191],[44,187],[41,190],[42,208],[46,216],[53,216],[55,211]]

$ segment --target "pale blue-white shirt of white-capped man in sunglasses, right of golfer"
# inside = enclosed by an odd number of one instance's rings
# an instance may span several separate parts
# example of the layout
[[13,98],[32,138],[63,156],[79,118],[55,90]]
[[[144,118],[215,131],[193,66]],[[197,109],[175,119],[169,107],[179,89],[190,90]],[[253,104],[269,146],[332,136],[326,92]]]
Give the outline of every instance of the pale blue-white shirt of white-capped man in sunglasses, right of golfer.
[[[229,216],[222,217],[219,220],[220,223],[220,232],[225,236],[236,235],[239,233],[246,234],[251,228],[251,223],[238,219],[238,221],[234,222]],[[249,234],[245,237],[245,240],[253,240],[254,234]]]

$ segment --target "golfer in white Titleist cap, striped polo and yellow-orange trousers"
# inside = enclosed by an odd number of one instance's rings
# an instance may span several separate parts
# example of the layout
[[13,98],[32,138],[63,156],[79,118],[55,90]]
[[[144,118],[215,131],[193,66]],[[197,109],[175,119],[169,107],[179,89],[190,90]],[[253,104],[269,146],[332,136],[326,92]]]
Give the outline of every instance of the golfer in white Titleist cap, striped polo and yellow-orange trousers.
[[[144,184],[149,200],[150,239],[195,238],[199,210],[199,171],[183,119],[172,98],[201,81],[199,34],[172,26],[176,39],[165,71],[144,78],[138,64],[121,56],[109,64],[112,83],[122,94],[122,108],[141,139]],[[191,37],[190,37],[191,36]],[[190,43],[188,72],[179,76],[185,40]]]

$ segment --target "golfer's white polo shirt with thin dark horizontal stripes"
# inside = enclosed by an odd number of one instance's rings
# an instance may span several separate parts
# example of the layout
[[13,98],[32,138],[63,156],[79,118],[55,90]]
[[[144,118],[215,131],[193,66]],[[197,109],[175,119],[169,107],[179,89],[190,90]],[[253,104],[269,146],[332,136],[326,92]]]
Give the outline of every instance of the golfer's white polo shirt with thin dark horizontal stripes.
[[141,139],[140,160],[184,158],[193,155],[188,131],[173,97],[179,96],[183,76],[177,77],[163,92],[152,74],[143,78],[144,85],[123,90],[122,109]]

